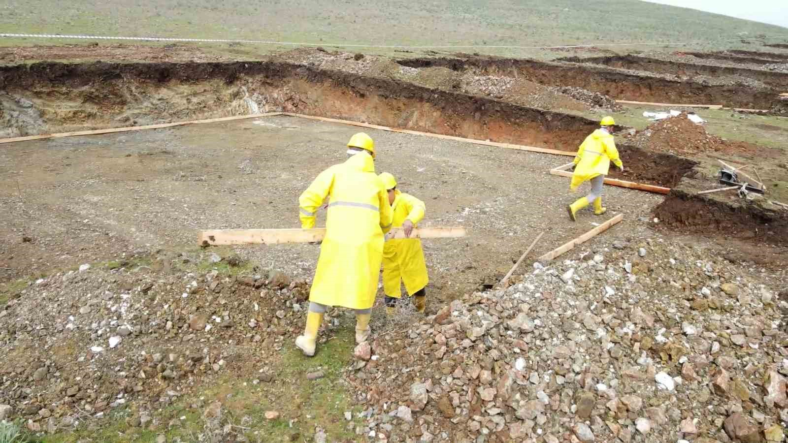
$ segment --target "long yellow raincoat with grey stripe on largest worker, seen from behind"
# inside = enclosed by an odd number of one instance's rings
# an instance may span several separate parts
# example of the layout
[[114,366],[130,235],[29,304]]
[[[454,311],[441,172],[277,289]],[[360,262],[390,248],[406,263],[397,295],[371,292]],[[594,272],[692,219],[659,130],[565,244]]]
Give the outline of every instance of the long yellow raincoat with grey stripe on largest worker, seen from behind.
[[392,225],[388,193],[370,154],[355,154],[314,179],[299,197],[303,229],[314,228],[315,214],[326,197],[326,233],[309,300],[368,309],[375,302],[383,235]]

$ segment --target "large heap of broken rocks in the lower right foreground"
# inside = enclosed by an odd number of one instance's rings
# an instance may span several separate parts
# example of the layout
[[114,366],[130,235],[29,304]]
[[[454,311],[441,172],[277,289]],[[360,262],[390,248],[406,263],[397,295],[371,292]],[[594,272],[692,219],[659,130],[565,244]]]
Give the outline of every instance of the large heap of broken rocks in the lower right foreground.
[[[357,348],[381,441],[782,441],[785,271],[615,240]],[[637,244],[637,242],[642,242]]]

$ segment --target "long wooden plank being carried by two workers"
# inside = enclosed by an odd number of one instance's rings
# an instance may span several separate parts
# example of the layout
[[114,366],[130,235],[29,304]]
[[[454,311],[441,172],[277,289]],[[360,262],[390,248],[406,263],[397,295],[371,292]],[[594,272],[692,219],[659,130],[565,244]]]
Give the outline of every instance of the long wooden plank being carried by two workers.
[[[405,231],[392,228],[389,238],[402,239]],[[410,238],[458,238],[466,236],[462,227],[416,228]],[[281,244],[310,243],[323,240],[325,229],[206,229],[199,231],[197,241],[202,246],[226,244]]]

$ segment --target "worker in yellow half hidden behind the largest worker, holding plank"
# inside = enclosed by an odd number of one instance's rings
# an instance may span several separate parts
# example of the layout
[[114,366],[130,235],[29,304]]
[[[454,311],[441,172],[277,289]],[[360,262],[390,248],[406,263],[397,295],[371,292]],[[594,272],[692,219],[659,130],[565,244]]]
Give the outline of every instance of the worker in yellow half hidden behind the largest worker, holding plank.
[[[405,236],[411,236],[413,229],[424,218],[424,202],[413,195],[400,192],[396,179],[390,173],[381,173],[381,181],[388,191],[388,203],[394,211],[393,226],[402,227]],[[427,266],[424,262],[422,241],[418,238],[388,239],[383,248],[383,292],[385,292],[386,313],[392,314],[396,300],[400,299],[402,286],[408,296],[414,297],[419,312],[426,307],[426,286],[429,283]]]

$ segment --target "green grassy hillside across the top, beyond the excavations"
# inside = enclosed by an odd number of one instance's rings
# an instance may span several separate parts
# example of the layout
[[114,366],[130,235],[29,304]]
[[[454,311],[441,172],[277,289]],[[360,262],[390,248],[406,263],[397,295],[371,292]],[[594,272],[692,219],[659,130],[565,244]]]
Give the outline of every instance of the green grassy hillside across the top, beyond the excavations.
[[[8,0],[0,10],[0,30],[266,39],[322,43],[327,47],[335,43],[558,45],[788,35],[788,29],[779,26],[637,0],[588,0],[582,3],[572,0],[64,0],[58,2],[57,8],[53,8],[48,0]],[[63,42],[0,39],[0,45]],[[701,49],[719,46],[756,47],[759,43],[722,43]],[[259,49],[272,50],[275,47]],[[523,53],[523,50],[492,48],[466,50],[502,55]]]

